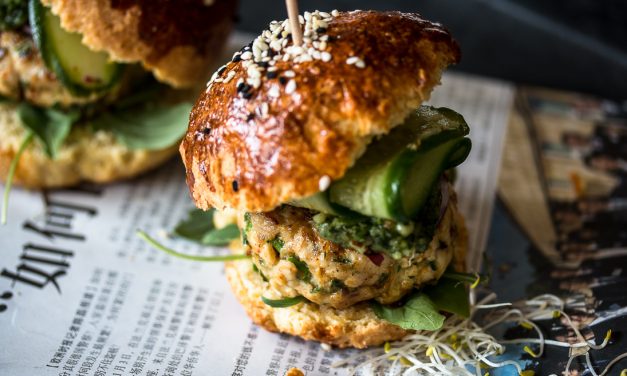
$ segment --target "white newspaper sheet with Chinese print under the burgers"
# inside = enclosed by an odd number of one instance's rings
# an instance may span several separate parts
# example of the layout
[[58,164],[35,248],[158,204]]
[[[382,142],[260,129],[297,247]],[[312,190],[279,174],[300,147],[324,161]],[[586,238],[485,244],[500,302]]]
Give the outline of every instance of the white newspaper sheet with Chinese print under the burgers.
[[[512,89],[460,75],[443,82],[433,103],[472,128],[458,192],[480,252]],[[252,325],[222,264],[173,259],[136,236],[142,229],[183,252],[224,252],[166,236],[191,206],[178,161],[105,187],[15,189],[0,227],[0,374],[345,374],[331,364],[346,351]]]

